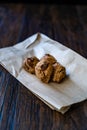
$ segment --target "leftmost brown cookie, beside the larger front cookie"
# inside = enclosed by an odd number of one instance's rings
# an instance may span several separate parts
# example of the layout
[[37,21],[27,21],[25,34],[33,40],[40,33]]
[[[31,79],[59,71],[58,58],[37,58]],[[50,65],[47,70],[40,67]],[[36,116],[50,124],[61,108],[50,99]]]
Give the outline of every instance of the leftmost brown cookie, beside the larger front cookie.
[[24,60],[23,67],[27,72],[31,74],[35,74],[35,66],[38,62],[39,62],[39,59],[35,56],[26,58]]

